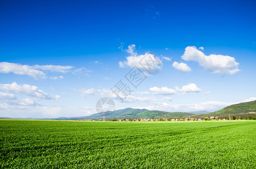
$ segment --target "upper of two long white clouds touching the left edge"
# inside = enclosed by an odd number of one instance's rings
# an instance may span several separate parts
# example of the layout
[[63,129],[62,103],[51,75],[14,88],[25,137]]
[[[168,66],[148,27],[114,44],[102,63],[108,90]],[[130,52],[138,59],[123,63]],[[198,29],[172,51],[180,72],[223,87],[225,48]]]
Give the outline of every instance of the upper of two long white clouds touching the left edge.
[[19,75],[29,75],[35,79],[46,78],[44,72],[34,69],[32,66],[15,63],[0,63],[0,73],[14,73]]

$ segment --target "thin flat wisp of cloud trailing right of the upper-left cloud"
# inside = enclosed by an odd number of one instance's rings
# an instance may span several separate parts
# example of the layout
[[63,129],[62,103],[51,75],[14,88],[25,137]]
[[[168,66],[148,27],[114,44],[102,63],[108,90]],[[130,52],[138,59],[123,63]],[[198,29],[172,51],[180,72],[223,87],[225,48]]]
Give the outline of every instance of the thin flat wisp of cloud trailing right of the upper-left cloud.
[[39,70],[48,70],[50,72],[60,72],[60,73],[66,73],[70,72],[73,66],[60,66],[60,65],[34,65],[32,66],[34,69]]

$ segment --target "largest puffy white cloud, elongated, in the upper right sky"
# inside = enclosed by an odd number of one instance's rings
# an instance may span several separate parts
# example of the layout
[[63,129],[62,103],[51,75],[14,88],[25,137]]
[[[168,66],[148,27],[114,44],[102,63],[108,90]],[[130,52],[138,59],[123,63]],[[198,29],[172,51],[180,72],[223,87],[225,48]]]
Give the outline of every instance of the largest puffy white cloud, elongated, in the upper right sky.
[[214,55],[206,56],[202,51],[197,50],[196,47],[188,46],[185,48],[184,55],[181,56],[186,61],[197,61],[201,66],[211,73],[235,74],[240,71],[238,69],[239,63],[236,62],[235,57]]

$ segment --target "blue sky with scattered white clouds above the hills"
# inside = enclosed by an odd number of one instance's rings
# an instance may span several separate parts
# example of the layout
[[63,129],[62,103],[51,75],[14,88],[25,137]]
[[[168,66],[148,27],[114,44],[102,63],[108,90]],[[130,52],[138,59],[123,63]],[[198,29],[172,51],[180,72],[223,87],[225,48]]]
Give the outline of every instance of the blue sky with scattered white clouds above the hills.
[[[255,1],[1,1],[0,117],[222,109],[256,100]],[[150,53],[148,53],[150,52]],[[138,61],[158,61],[146,72]],[[147,78],[134,88],[134,66]],[[111,91],[120,80],[133,92]],[[116,89],[115,89],[116,90]]]

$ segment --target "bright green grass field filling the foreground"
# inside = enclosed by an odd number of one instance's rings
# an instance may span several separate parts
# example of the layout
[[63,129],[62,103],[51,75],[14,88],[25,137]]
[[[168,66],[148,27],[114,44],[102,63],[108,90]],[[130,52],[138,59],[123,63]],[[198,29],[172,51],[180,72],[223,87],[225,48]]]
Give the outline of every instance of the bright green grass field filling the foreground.
[[255,168],[256,121],[0,121],[1,168]]

